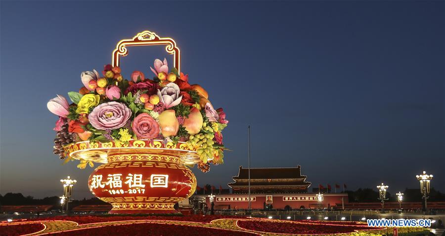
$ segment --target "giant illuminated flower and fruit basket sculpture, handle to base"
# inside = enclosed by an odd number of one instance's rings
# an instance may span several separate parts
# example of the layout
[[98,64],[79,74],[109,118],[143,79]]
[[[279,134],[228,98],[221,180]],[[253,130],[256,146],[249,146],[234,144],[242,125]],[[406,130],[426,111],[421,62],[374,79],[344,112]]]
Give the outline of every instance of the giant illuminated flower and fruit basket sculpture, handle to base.
[[[174,67],[156,59],[145,77],[124,79],[120,57],[129,46],[166,45]],[[147,72],[146,72],[147,73]],[[147,76],[148,77],[148,76]],[[113,205],[110,213],[170,213],[190,197],[196,178],[188,167],[207,172],[223,163],[227,126],[222,108],[214,109],[207,92],[180,72],[180,51],[171,38],[149,31],[121,40],[112,64],[81,73],[84,86],[48,101],[59,116],[54,154],[79,168],[103,164],[89,176],[91,193]]]

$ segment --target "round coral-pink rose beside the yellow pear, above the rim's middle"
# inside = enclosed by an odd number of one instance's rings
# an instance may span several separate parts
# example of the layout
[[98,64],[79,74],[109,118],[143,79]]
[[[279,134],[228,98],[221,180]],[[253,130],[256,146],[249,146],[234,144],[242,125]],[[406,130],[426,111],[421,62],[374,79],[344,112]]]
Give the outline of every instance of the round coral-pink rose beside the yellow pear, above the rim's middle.
[[159,135],[158,122],[147,113],[140,113],[133,120],[133,133],[139,139],[151,139]]

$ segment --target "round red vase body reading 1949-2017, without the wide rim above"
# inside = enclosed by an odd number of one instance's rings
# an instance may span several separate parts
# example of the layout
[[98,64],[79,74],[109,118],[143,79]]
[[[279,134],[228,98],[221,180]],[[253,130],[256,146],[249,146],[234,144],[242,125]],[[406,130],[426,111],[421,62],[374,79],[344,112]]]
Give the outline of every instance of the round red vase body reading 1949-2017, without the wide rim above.
[[195,192],[196,177],[175,151],[122,151],[109,154],[89,176],[91,193],[113,205],[109,213],[172,213]]

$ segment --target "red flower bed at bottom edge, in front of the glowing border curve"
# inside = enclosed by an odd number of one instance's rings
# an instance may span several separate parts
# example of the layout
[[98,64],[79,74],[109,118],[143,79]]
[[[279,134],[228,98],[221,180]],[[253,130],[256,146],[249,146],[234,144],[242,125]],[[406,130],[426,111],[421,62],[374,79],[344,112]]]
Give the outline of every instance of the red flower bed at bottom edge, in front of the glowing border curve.
[[93,229],[83,229],[51,234],[51,236],[258,236],[247,232],[220,230],[193,226],[164,224],[131,224],[104,226]]

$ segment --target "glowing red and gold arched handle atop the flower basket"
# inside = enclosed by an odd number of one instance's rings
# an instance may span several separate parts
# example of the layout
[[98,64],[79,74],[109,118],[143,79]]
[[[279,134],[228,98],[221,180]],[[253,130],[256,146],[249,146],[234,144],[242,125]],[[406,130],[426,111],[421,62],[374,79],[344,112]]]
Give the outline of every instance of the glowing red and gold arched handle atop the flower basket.
[[169,54],[174,55],[173,65],[180,72],[180,51],[176,46],[175,40],[169,37],[159,37],[157,34],[150,31],[143,31],[136,34],[132,39],[122,39],[116,45],[116,49],[113,51],[112,55],[112,65],[113,67],[119,67],[120,56],[127,56],[128,50],[127,46],[150,46],[150,45],[167,45],[165,50]]

